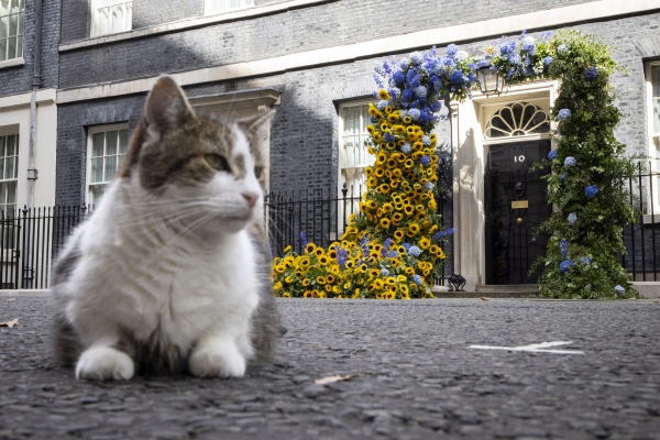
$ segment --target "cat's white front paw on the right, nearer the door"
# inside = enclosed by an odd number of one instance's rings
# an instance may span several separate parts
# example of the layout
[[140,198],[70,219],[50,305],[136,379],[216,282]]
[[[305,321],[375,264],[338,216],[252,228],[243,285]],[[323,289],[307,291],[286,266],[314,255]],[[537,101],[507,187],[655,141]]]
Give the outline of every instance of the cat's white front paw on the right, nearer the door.
[[245,358],[235,346],[207,346],[190,356],[190,373],[197,377],[242,377]]

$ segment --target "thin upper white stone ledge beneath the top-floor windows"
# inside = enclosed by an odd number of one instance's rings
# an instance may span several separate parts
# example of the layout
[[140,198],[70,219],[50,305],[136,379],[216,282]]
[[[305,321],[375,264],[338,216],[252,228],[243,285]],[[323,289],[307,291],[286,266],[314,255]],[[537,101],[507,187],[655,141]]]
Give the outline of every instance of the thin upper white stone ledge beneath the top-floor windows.
[[[134,31],[120,32],[117,34],[94,36],[91,38],[79,40],[72,43],[61,44],[57,47],[58,52],[75,51],[77,48],[97,46],[99,44],[114,43],[125,40],[141,38],[150,35],[158,35],[172,32],[186,31],[194,28],[207,26],[211,24],[226,23],[228,21],[252,19],[261,15],[267,15],[278,12],[285,12],[290,9],[311,7],[318,3],[327,3],[336,0],[290,0],[284,3],[267,4],[263,7],[250,7],[248,9],[223,12],[210,16],[197,16],[194,19],[185,19],[155,26],[142,28]],[[94,11],[92,11],[94,16]],[[94,20],[94,19],[92,19]]]

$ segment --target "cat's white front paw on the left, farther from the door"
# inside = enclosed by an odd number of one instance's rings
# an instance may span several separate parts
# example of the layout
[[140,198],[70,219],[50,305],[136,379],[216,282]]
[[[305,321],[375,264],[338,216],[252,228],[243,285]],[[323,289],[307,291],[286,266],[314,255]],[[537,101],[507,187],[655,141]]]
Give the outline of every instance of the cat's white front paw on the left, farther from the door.
[[76,377],[91,381],[128,381],[133,377],[133,360],[110,346],[92,346],[86,350],[76,365]]

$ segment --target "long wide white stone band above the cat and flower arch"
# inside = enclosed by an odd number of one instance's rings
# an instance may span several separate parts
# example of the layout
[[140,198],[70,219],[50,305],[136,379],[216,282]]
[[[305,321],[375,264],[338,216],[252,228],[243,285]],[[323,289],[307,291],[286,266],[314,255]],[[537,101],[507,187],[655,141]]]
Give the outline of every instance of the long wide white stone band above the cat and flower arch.
[[[297,1],[302,2],[304,0]],[[430,47],[432,45],[444,45],[452,42],[459,42],[457,41],[457,36],[462,41],[483,40],[493,35],[520,32],[525,29],[558,28],[585,20],[613,18],[653,10],[660,10],[660,2],[658,0],[598,0],[547,11],[419,31],[387,38],[327,47],[254,62],[208,67],[172,74],[172,76],[179,86],[189,86],[232,78],[274,75],[292,69],[309,68],[332,63],[348,63],[359,58],[405,52],[420,47]],[[61,90],[57,92],[57,103],[145,92],[153,87],[155,81],[156,77],[151,77]]]

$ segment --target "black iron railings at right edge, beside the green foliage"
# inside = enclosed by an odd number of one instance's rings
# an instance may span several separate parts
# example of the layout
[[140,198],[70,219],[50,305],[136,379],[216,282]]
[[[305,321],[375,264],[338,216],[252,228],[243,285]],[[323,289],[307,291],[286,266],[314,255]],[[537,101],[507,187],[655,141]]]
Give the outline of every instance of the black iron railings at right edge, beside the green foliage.
[[660,278],[660,173],[651,169],[651,163],[648,169],[639,164],[635,176],[625,177],[636,222],[624,228],[628,254],[620,255],[620,261],[636,282]]

